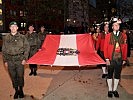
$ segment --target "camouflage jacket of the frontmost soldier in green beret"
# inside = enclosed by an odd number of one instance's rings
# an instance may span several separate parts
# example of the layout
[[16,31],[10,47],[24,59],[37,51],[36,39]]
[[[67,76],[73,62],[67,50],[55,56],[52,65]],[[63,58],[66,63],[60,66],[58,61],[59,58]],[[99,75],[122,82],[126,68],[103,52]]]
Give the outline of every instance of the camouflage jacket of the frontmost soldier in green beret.
[[3,37],[2,54],[4,62],[11,60],[12,57],[17,57],[17,60],[27,60],[29,50],[29,42],[24,35],[20,33],[12,35],[10,33]]

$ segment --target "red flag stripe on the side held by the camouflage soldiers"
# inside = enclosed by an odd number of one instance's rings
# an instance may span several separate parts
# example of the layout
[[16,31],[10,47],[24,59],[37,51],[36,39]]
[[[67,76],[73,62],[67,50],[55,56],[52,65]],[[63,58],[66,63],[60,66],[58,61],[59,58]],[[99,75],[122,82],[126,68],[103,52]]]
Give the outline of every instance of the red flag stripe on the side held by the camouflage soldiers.
[[60,35],[47,35],[39,52],[33,55],[28,64],[52,65],[56,58],[56,52],[60,43]]

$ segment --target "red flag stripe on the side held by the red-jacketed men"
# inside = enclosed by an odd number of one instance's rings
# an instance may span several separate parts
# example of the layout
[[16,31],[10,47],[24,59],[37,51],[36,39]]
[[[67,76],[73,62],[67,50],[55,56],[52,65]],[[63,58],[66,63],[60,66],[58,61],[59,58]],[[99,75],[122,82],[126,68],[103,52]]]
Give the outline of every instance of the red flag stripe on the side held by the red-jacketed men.
[[77,49],[79,50],[79,65],[97,65],[105,64],[105,62],[95,52],[94,44],[90,34],[77,35]]

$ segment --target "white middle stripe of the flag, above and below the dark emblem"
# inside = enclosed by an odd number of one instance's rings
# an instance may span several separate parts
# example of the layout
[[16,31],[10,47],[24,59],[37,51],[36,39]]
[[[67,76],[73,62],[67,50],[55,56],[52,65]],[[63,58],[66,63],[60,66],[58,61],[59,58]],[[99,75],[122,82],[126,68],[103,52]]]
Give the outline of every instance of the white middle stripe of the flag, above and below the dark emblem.
[[[76,35],[61,35],[59,48],[77,49]],[[53,65],[57,66],[78,66],[78,55],[60,56],[57,55]]]

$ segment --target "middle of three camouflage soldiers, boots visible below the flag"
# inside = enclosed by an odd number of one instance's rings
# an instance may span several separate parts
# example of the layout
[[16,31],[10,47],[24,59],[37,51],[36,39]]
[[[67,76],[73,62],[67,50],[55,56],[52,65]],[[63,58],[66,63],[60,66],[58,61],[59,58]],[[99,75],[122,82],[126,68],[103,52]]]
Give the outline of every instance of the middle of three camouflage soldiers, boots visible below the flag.
[[[28,42],[30,44],[30,52],[29,52],[29,57],[32,57],[40,48],[41,41],[38,37],[38,34],[34,32],[34,26],[29,25],[29,31],[26,33],[26,37],[28,39]],[[29,75],[37,75],[37,65],[36,64],[29,64],[31,72]]]

